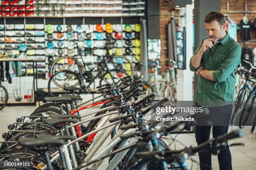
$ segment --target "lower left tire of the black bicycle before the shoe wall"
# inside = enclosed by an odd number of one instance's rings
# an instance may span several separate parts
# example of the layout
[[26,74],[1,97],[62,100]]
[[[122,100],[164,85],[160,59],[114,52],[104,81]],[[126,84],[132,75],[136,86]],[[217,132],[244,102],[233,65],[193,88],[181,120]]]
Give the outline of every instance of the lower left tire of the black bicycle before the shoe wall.
[[[53,85],[53,83],[54,83],[54,77],[56,76],[58,76],[58,74],[61,74],[61,73],[67,73],[67,74],[69,74],[69,80],[70,80],[70,78],[73,78],[74,80],[77,80],[78,82],[76,83],[76,82],[74,82],[73,84],[74,85],[68,85],[67,86],[67,84],[65,84],[65,85],[60,85],[59,87],[61,87],[61,89],[63,89],[63,87],[64,86],[66,86],[66,87],[71,87],[71,86],[73,86],[73,87],[75,87],[76,85],[78,85],[78,84],[81,84],[81,79],[80,79],[80,76],[76,73],[76,72],[72,72],[72,71],[70,71],[70,70],[61,70],[61,71],[58,71],[58,72],[55,72],[54,73],[54,75],[52,75],[51,77],[50,77],[50,79],[49,79],[49,81],[48,81],[48,93],[49,93],[49,95],[51,96],[51,97],[54,97],[54,95],[53,95],[53,93],[51,92],[51,85]],[[67,79],[65,79],[65,80],[67,80]],[[53,82],[53,83],[52,83]],[[54,83],[55,84],[55,83]]]

